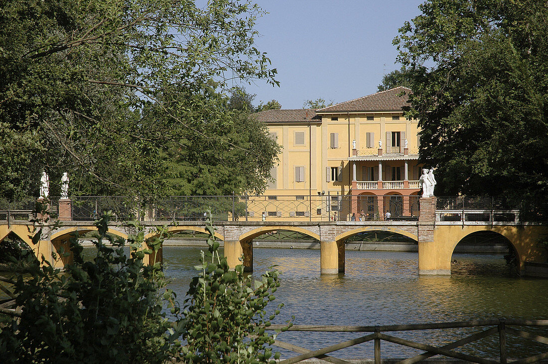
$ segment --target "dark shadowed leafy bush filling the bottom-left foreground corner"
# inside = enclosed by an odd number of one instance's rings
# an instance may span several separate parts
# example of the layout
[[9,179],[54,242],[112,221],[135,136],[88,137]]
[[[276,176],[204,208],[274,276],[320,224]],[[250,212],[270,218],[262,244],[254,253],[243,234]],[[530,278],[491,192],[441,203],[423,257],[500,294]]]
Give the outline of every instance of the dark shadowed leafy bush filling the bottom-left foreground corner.
[[95,222],[92,262],[83,262],[76,241],[71,242],[75,264],[64,272],[28,254],[29,278],[20,275],[15,283],[16,304],[24,309],[20,319],[0,331],[2,362],[163,363],[176,357],[178,333],[162,313],[164,300],[173,302],[173,293],[159,294],[165,287],[159,263],[142,263],[145,253],[154,254],[159,244],[138,250],[144,233],[130,235],[134,252],[127,257],[124,240],[107,234],[110,217]]

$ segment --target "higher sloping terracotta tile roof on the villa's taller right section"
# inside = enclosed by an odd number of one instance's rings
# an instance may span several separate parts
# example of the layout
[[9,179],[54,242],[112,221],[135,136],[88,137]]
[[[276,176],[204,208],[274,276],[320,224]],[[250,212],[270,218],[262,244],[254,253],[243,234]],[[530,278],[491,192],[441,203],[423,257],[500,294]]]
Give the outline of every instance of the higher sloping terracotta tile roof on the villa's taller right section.
[[[402,93],[402,96],[398,96]],[[337,103],[333,106],[316,110],[321,114],[324,112],[350,112],[350,111],[401,111],[407,105],[411,89],[407,87],[396,87],[394,89],[380,91],[376,94],[360,97],[359,99]]]

